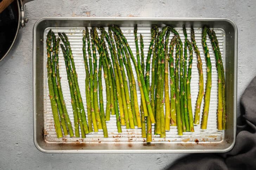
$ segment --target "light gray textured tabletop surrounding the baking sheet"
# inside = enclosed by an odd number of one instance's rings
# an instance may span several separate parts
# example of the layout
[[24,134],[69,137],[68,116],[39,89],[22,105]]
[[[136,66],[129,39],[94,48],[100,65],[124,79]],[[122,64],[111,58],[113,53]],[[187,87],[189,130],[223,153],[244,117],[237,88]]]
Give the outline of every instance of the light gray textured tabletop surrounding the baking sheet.
[[[42,17],[229,18],[238,27],[238,103],[256,75],[256,1],[35,0],[29,22],[0,63],[0,169],[165,169],[185,154],[45,154],[33,143],[32,30]],[[239,111],[239,108],[238,108]]]

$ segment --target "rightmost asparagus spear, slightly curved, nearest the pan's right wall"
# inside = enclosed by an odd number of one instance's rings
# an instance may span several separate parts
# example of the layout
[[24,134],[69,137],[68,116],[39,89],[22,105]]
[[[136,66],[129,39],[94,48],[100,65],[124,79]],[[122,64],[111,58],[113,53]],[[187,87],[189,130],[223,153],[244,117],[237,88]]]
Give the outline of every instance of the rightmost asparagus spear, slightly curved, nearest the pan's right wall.
[[214,37],[214,41],[215,41],[215,44],[217,46],[217,50],[218,50],[218,53],[219,53],[220,68],[221,68],[221,72],[222,72],[222,106],[223,106],[222,129],[225,130],[226,129],[225,73],[224,73],[224,67],[223,67],[223,63],[222,63],[221,53],[220,53],[220,50],[219,50],[219,42],[218,42],[216,34],[213,30],[212,30],[212,35]]

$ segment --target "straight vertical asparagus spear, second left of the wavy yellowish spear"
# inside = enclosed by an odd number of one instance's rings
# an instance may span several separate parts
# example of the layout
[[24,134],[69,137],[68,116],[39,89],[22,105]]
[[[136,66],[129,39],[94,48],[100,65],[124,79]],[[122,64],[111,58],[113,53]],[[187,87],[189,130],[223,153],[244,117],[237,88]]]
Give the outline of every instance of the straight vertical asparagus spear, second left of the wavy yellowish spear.
[[185,125],[186,131],[190,131],[190,119],[188,118],[188,111],[187,111],[187,31],[185,25],[183,25],[183,33],[185,36],[184,42],[184,116],[185,116]]

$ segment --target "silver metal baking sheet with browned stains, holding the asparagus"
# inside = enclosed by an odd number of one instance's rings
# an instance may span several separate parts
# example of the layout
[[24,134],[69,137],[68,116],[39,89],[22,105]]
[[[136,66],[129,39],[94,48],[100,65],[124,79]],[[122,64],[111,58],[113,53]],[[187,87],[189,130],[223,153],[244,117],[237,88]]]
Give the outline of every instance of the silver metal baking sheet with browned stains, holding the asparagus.
[[[225,25],[223,25],[223,23]],[[190,40],[190,27],[193,25],[195,29],[195,37],[198,48],[200,50],[203,61],[204,70],[204,87],[206,82],[206,64],[204,60],[203,48],[201,45],[201,32],[203,25],[214,28],[219,40],[220,51],[222,52],[223,65],[226,76],[226,100],[228,129],[225,131],[217,130],[217,70],[215,56],[212,50],[209,37],[207,45],[212,61],[212,89],[210,99],[210,110],[207,124],[207,130],[201,130],[200,125],[195,125],[195,132],[184,132],[183,136],[178,136],[177,127],[172,127],[170,131],[166,131],[166,138],[160,138],[159,135],[152,137],[150,144],[141,138],[141,129],[126,129],[122,126],[122,133],[117,132],[116,118],[111,115],[110,121],[107,122],[108,138],[103,138],[103,131],[93,132],[86,135],[86,138],[70,138],[69,136],[57,138],[49,92],[47,86],[47,70],[46,70],[46,34],[52,29],[53,32],[65,32],[70,41],[72,53],[78,74],[78,84],[81,91],[85,110],[85,69],[82,51],[82,31],[87,26],[106,26],[108,24],[117,24],[121,27],[124,36],[135,54],[134,43],[134,24],[138,24],[138,35],[141,33],[144,40],[144,53],[147,54],[149,41],[151,39],[150,28],[152,24],[164,26],[165,24],[174,26],[179,32],[184,42],[182,24],[187,27],[188,39]],[[230,25],[230,28],[228,26]],[[100,34],[100,32],[98,32]],[[171,37],[173,34],[171,34]],[[170,38],[171,38],[170,37]],[[236,27],[229,20],[221,19],[157,19],[157,18],[44,18],[34,26],[34,142],[37,148],[44,152],[225,152],[232,148],[235,142],[235,115],[236,115]],[[140,44],[139,44],[140,45]],[[229,51],[228,51],[229,50]],[[231,50],[231,52],[230,52]],[[232,53],[230,55],[230,53]],[[110,55],[110,54],[109,54]],[[97,57],[98,53],[97,53]],[[198,95],[198,69],[197,57],[194,53],[192,65],[191,79],[191,96],[193,113]],[[146,59],[146,58],[145,58]],[[89,61],[88,61],[89,62]],[[145,62],[146,63],[146,62]],[[65,70],[63,53],[59,51],[59,70],[61,85],[63,90],[66,107],[71,122],[73,122],[73,112],[70,103],[69,85]],[[136,73],[134,71],[136,80]],[[105,95],[105,82],[103,83],[103,101]],[[140,98],[140,90],[137,86],[138,99]],[[140,100],[138,100],[140,105]],[[201,116],[203,113],[204,100],[201,105]],[[105,107],[105,105],[104,105]],[[154,126],[152,126],[154,129]],[[152,131],[153,131],[152,129]]]

